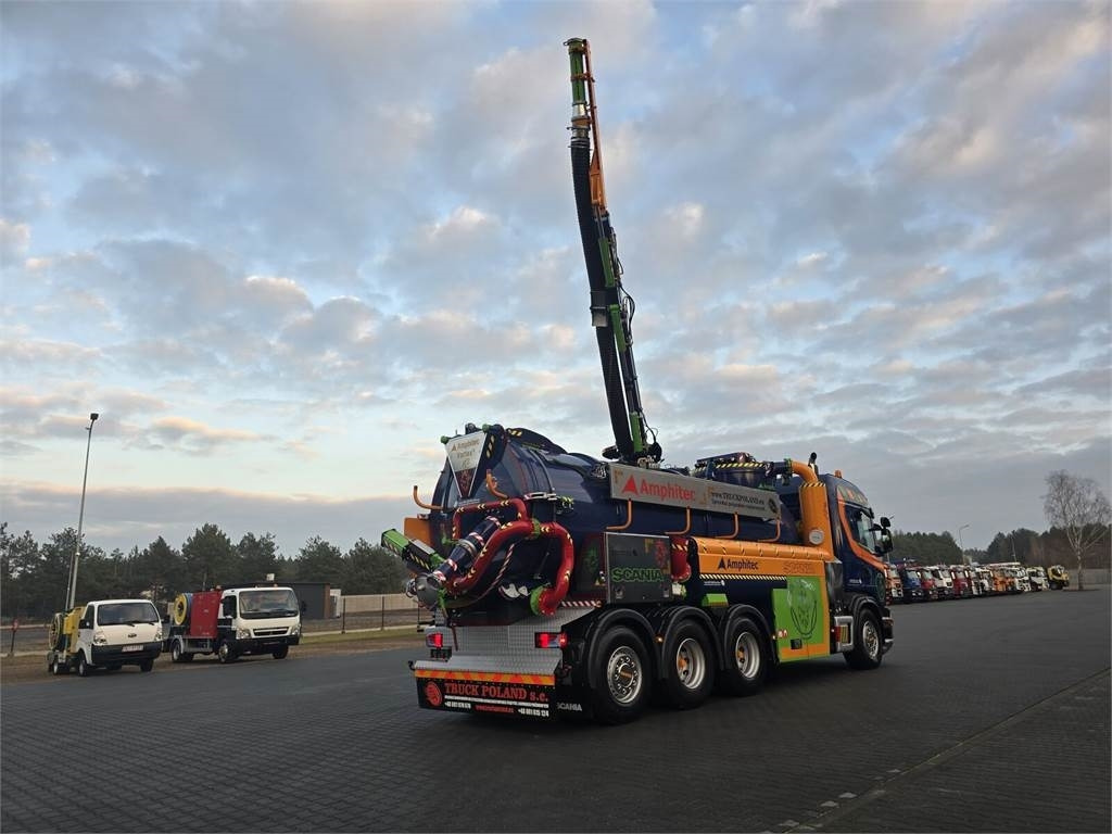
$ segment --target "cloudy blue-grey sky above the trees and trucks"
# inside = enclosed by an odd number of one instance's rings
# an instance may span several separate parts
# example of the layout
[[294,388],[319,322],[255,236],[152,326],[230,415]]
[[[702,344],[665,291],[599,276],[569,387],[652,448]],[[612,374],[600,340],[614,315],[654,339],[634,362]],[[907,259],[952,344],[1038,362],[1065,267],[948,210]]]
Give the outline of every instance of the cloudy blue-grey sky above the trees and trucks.
[[[441,435],[613,443],[568,160],[592,44],[665,463],[904,530],[1110,492],[1108,2],[12,2],[0,520],[377,540]],[[967,525],[967,526],[966,526]]]

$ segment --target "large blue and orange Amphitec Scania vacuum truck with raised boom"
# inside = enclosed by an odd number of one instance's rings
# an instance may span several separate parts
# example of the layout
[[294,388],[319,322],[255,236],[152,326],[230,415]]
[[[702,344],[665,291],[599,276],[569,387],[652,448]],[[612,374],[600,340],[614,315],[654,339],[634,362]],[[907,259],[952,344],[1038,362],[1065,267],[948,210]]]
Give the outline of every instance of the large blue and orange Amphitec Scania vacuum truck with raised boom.
[[881,664],[888,522],[816,456],[713,454],[665,467],[632,353],[603,181],[586,40],[572,69],[572,169],[590,317],[615,443],[602,459],[526,428],[444,437],[426,510],[383,544],[433,610],[410,662],[420,706],[553,718],[636,718],[656,694],[699,706],[762,688],[777,664],[843,654]]

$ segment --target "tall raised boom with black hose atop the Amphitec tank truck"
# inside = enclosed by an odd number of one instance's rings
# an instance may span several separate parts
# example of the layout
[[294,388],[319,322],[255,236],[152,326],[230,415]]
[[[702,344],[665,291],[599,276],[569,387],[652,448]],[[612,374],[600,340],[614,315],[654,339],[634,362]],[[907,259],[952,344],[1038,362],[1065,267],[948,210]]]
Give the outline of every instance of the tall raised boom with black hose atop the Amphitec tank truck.
[[661,447],[645,421],[637,385],[631,329],[635,307],[622,287],[622,264],[606,207],[590,47],[582,38],[573,38],[565,46],[572,64],[572,178],[590,285],[590,322],[598,342],[615,440],[603,455],[643,466],[661,459]]

